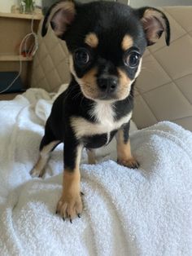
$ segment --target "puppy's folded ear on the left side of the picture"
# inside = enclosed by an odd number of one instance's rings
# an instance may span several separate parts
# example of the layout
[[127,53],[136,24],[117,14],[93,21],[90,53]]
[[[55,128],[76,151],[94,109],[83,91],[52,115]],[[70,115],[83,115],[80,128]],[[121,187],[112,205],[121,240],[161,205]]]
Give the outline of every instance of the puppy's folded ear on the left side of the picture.
[[62,38],[68,29],[68,25],[72,24],[76,15],[75,3],[70,0],[56,2],[50,10],[47,11],[42,24],[41,36],[45,37],[49,24],[55,31],[58,38]]

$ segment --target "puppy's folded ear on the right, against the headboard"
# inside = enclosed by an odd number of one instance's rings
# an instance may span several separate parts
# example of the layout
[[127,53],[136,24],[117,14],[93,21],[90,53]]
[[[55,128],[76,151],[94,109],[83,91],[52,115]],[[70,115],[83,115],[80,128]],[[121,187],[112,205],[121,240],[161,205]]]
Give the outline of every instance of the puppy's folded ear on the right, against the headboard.
[[151,46],[158,41],[162,33],[165,33],[165,41],[167,46],[170,43],[170,26],[168,18],[164,12],[152,7],[143,7],[137,9],[143,29],[146,33],[147,45]]

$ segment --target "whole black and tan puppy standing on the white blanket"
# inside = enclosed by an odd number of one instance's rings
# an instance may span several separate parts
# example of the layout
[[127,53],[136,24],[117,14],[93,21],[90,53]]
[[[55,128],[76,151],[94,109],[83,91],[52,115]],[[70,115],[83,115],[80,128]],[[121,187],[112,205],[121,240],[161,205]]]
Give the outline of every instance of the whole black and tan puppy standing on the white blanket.
[[82,148],[88,149],[89,162],[94,163],[93,148],[107,145],[116,135],[118,162],[137,168],[129,142],[133,84],[146,46],[163,32],[168,45],[170,31],[161,11],[136,10],[117,2],[58,2],[45,17],[42,36],[49,24],[67,43],[72,81],[53,104],[31,174],[41,176],[50,152],[64,143],[63,193],[57,213],[71,220],[83,208]]

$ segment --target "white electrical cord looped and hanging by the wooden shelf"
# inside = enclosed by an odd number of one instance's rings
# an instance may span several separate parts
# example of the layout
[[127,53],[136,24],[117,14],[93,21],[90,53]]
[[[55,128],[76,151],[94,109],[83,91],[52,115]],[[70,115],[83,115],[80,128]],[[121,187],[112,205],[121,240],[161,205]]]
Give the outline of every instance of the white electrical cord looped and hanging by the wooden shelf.
[[[0,94],[6,92],[7,90],[9,90],[11,88],[11,86],[14,85],[15,81],[20,77],[21,73],[22,73],[22,54],[23,54],[23,48],[24,48],[24,54],[26,55],[26,57],[30,57],[30,56],[34,56],[38,50],[38,40],[37,40],[37,33],[34,32],[33,29],[34,26],[34,14],[32,17],[32,22],[31,22],[31,33],[28,33],[23,40],[20,43],[20,71],[18,73],[18,75],[14,78],[14,80],[11,82],[11,84],[9,86],[7,86],[6,89],[1,90]],[[34,43],[33,45],[29,48],[29,51],[27,50],[27,43],[28,43],[28,39],[32,38],[34,39]]]

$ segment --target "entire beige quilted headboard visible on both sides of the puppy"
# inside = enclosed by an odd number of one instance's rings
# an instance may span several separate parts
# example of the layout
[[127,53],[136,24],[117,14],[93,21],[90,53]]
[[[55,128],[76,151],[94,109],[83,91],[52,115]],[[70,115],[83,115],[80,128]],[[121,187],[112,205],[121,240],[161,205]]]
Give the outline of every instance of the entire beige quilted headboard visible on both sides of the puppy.
[[[133,120],[138,128],[174,121],[192,130],[192,7],[164,7],[171,24],[171,46],[164,38],[148,48],[137,79]],[[69,80],[65,43],[49,30],[39,36],[32,86],[55,91]]]

